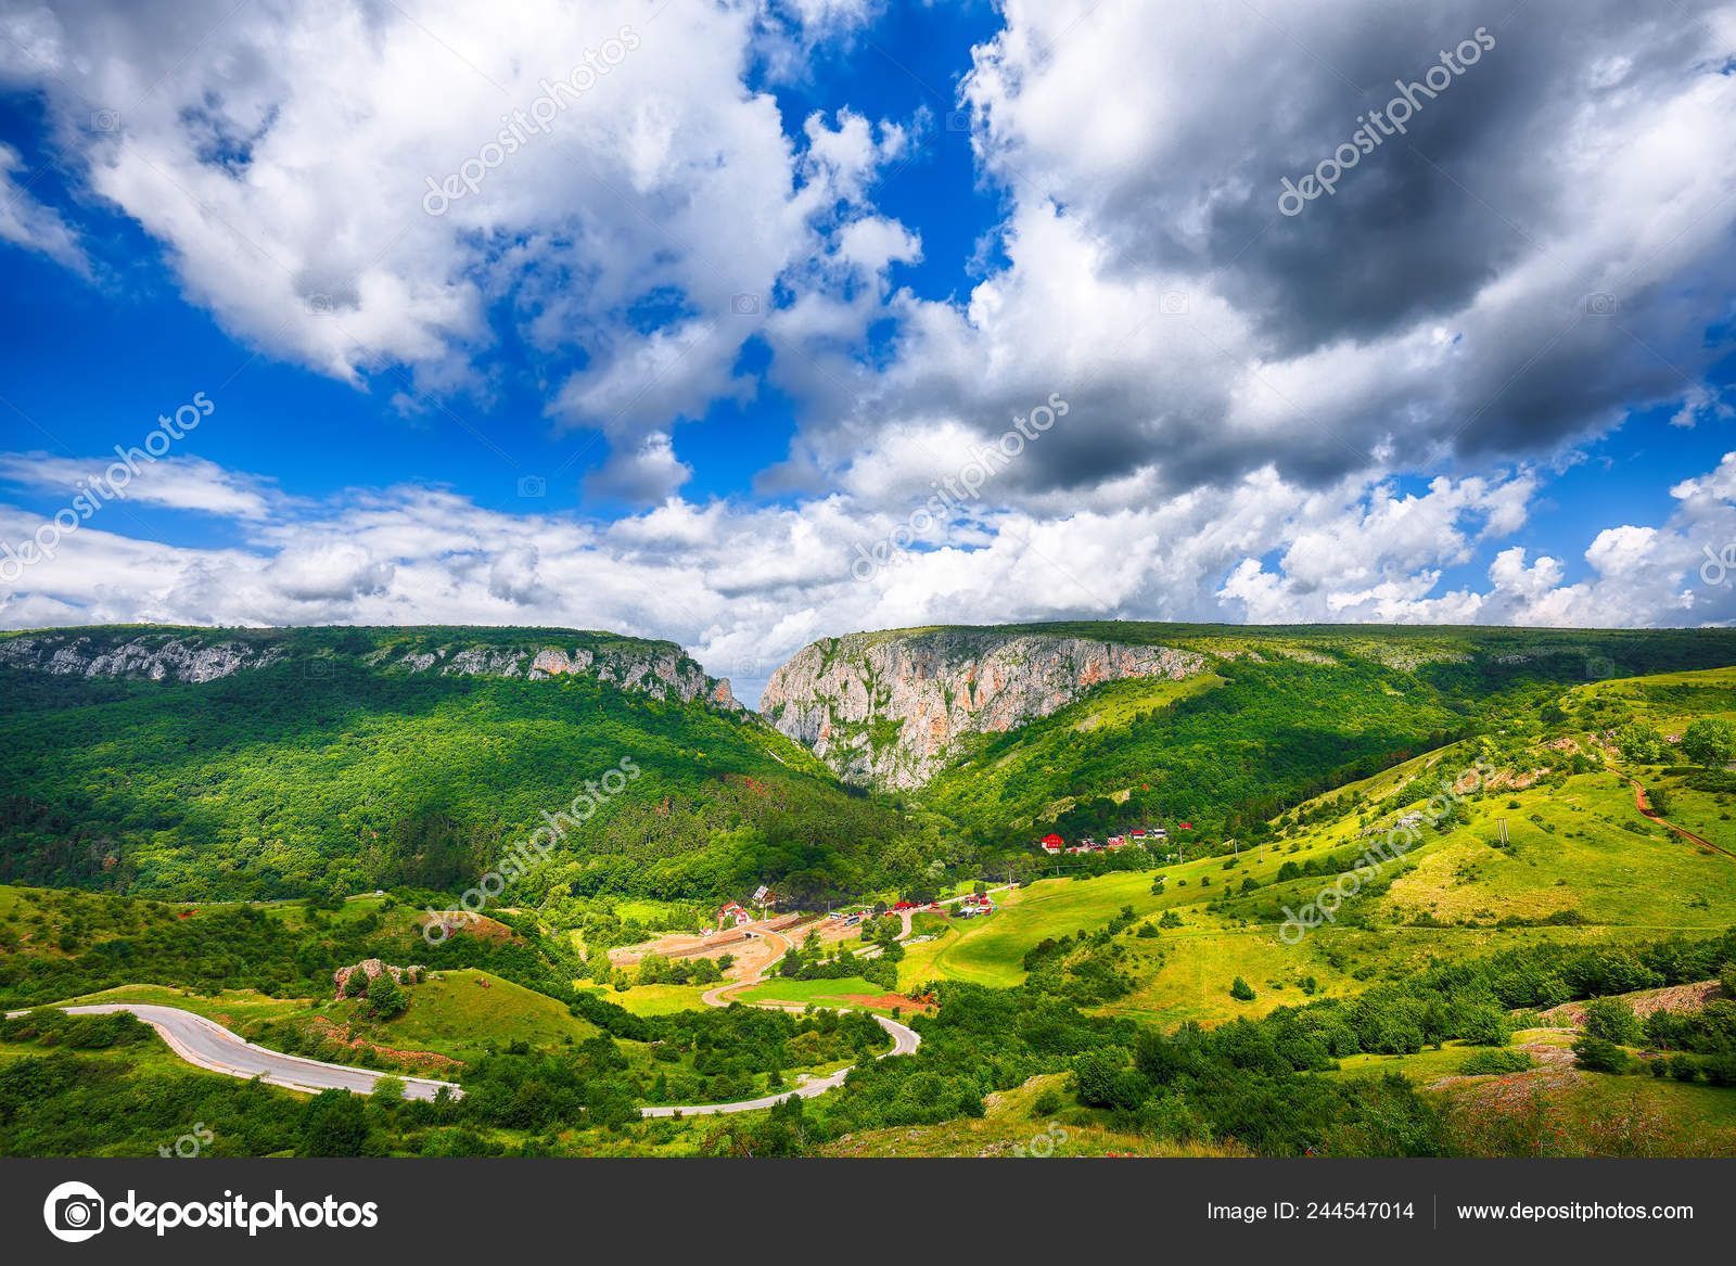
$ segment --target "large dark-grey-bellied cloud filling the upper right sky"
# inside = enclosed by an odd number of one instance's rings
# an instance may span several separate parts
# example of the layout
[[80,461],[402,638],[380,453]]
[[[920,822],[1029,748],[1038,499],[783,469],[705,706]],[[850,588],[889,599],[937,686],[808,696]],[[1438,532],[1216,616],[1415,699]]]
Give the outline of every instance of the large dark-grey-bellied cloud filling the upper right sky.
[[[1722,417],[1729,3],[1535,0],[1462,73],[1441,52],[1491,21],[1470,0],[1003,10],[962,89],[1003,262],[963,304],[891,297],[868,382],[790,368],[835,391],[783,479],[826,486],[920,417],[991,436],[1047,391],[1075,413],[1005,481],[1026,507],[1108,505],[1132,469],[1168,495],[1266,464],[1330,486],[1561,462],[1649,405]],[[1283,177],[1430,66],[1451,89],[1406,135],[1279,212]]]

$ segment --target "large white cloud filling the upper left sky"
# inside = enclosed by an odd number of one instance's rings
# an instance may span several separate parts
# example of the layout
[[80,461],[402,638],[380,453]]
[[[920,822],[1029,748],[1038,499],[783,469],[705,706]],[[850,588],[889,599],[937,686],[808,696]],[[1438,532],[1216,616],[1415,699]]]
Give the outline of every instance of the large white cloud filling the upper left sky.
[[[490,399],[490,354],[521,337],[578,365],[552,384],[556,424],[634,465],[746,389],[733,366],[779,285],[825,295],[917,250],[861,205],[903,127],[842,111],[792,139],[745,82],[767,31],[842,35],[868,12],[19,5],[0,9],[0,83],[42,94],[90,193],[240,340],[356,386],[404,368],[417,392]],[[0,151],[0,177],[12,163]],[[75,260],[52,212],[5,207],[0,236]],[[859,337],[866,309],[838,311]]]

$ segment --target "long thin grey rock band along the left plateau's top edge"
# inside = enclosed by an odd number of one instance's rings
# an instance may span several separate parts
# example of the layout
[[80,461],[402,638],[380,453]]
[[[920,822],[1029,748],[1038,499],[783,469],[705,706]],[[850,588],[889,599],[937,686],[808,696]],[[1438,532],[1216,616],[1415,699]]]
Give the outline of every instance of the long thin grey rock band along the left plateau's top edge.
[[[458,630],[453,630],[455,634]],[[589,676],[620,689],[658,700],[701,702],[715,709],[738,710],[741,703],[729,689],[727,677],[712,677],[674,643],[599,637],[595,646],[524,646],[498,643],[436,644],[417,637],[406,644],[394,630],[377,630],[389,644],[356,655],[358,663],[378,672],[437,672],[457,677],[524,677],[547,681],[561,676]],[[396,644],[392,644],[396,641]],[[23,634],[0,639],[0,667],[30,669],[57,676],[125,677],[135,681],[205,682],[236,672],[269,669],[299,660],[309,677],[332,670],[344,653],[299,636],[250,632],[243,637],[220,630],[61,630]]]

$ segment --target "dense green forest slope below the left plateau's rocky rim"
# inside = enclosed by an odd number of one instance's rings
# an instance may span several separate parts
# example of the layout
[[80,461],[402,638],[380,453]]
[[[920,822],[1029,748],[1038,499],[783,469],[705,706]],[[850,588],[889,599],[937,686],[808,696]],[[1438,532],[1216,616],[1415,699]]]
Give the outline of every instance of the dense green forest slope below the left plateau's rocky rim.
[[[773,880],[823,898],[939,851],[936,827],[838,787],[752,714],[587,676],[391,672],[361,662],[366,632],[319,632],[335,646],[309,658],[297,643],[198,684],[0,669],[0,880],[198,900],[410,886],[450,901],[587,794],[594,816],[564,827],[517,896],[712,898]],[[595,795],[623,768],[630,781]]]

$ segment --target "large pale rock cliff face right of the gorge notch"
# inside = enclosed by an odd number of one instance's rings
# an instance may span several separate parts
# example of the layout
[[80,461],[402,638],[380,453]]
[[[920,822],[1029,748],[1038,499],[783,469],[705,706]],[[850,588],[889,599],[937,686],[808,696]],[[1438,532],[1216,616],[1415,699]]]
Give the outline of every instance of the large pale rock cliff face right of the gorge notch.
[[766,684],[760,714],[840,778],[911,788],[970,735],[1003,733],[1127,677],[1191,677],[1198,651],[1083,637],[936,629],[852,634],[802,648]]

